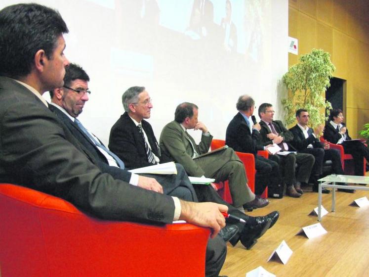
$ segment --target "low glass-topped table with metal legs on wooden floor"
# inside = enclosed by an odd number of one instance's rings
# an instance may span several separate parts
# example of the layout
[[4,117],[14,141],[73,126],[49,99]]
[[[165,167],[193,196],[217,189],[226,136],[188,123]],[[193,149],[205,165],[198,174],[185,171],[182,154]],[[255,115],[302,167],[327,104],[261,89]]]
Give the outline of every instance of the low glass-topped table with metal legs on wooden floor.
[[353,176],[353,175],[328,175],[322,179],[319,179],[318,188],[318,221],[322,221],[322,187],[332,188],[332,212],[335,212],[336,205],[336,192],[335,188],[342,189],[357,189],[357,190],[369,190],[367,186],[358,185],[336,185],[336,183],[354,183],[354,184],[369,184],[369,177],[366,176]]

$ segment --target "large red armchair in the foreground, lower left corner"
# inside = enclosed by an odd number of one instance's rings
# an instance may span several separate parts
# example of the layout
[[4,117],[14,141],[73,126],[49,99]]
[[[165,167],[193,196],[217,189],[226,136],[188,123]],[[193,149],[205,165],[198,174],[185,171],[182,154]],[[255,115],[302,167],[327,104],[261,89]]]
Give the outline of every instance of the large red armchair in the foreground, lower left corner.
[[10,184],[0,184],[0,211],[3,277],[205,275],[205,228],[99,220]]

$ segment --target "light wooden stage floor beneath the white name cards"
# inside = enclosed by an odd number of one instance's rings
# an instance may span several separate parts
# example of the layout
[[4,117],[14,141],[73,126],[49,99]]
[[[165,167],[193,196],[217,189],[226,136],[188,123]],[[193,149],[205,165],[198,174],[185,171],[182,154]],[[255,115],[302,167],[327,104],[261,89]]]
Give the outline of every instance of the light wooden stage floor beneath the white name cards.
[[[296,235],[302,227],[318,223],[316,216],[308,214],[318,206],[318,193],[305,192],[301,198],[285,196],[269,198],[270,204],[247,213],[265,215],[278,210],[281,216],[276,225],[267,231],[251,250],[239,242],[228,244],[228,254],[220,275],[245,277],[246,273],[262,266],[278,277],[365,277],[369,276],[369,207],[349,204],[369,192],[336,192],[336,212],[331,212],[331,194],[323,195],[323,206],[329,212],[321,224],[328,233],[308,239]],[[282,240],[293,251],[286,265],[266,262]]]

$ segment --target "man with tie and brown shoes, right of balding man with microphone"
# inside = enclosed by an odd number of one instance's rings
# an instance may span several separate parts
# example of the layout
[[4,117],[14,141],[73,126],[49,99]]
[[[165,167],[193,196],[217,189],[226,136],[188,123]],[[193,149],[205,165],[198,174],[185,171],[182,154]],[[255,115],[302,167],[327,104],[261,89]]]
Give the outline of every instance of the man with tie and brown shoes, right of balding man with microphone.
[[[279,120],[273,120],[274,110],[272,104],[263,103],[259,106],[260,136],[263,145],[277,144],[281,151],[296,151],[292,146],[293,134],[286,129]],[[286,194],[291,197],[300,197],[303,193],[301,183],[307,184],[311,169],[314,164],[314,156],[306,153],[290,153],[280,155],[283,178],[287,185]],[[298,165],[297,174],[295,173]]]

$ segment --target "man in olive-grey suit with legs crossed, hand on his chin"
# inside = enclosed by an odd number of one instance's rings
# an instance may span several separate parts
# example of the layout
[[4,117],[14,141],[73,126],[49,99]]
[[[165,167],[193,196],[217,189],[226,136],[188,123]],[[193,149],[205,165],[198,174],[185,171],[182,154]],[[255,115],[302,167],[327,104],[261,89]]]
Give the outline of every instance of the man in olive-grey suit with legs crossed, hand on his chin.
[[[190,176],[214,178],[215,182],[228,180],[233,205],[238,209],[261,208],[269,204],[267,199],[255,197],[247,186],[244,164],[232,148],[197,158],[208,151],[212,140],[206,126],[198,121],[198,109],[198,106],[188,102],[177,106],[174,121],[165,125],[160,136],[162,159],[182,164]],[[199,144],[187,133],[187,129],[203,132]]]

